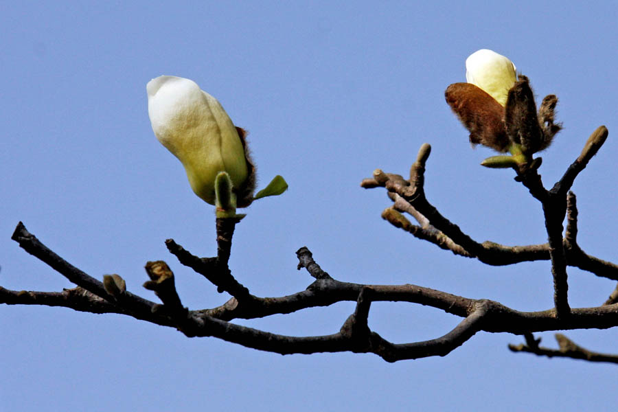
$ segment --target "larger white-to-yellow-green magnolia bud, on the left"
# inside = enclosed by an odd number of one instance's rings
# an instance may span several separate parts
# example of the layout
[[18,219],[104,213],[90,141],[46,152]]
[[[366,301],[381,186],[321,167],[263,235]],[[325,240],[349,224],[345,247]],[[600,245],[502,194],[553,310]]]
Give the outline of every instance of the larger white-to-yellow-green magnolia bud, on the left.
[[196,195],[215,204],[215,179],[227,172],[235,190],[251,173],[238,130],[221,104],[192,80],[150,80],[148,115],[157,139],[176,156]]

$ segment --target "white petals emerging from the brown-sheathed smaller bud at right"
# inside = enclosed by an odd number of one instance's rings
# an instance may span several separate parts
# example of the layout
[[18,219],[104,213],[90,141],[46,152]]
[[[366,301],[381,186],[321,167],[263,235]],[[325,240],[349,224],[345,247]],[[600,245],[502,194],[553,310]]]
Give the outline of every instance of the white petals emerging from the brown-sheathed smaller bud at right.
[[466,80],[505,106],[509,90],[516,81],[516,68],[505,56],[481,49],[466,59]]

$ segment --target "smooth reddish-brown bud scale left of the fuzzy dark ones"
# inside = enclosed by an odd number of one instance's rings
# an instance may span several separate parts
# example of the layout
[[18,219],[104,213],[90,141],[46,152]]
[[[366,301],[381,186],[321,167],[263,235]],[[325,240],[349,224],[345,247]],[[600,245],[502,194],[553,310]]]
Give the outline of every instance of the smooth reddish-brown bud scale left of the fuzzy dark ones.
[[503,121],[504,108],[492,96],[471,83],[453,83],[444,96],[470,132],[470,143],[482,144],[499,152],[508,150],[511,142]]

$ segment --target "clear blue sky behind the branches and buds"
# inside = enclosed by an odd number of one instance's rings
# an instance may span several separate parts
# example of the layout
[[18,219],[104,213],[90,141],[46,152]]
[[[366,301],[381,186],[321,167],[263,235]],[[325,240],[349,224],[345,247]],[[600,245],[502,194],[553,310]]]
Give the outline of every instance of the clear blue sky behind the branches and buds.
[[[574,4],[574,2],[573,2]],[[214,212],[192,194],[181,164],[150,128],[146,82],[195,80],[247,128],[262,186],[290,185],[238,226],[233,273],[255,295],[311,282],[296,271],[306,245],[336,279],[412,283],[518,310],[553,305],[547,262],[485,267],[398,231],[380,218],[376,168],[407,174],[419,146],[428,199],[477,240],[546,240],[542,211],[510,170],[479,163],[444,102],[477,49],[509,56],[538,98],[555,93],[564,130],[542,154],[553,184],[605,124],[604,148],[575,182],[580,243],[617,260],[613,156],[618,6],[506,2],[45,2],[0,15],[0,285],[71,284],[19,249],[19,220],[90,275],[118,273],[141,288],[144,263],[166,260],[183,304],[227,300],[181,266],[163,241],[214,255]],[[597,306],[615,284],[569,269],[571,306]],[[240,321],[272,332],[330,334],[354,310],[336,304]],[[432,308],[374,304],[369,325],[398,343],[431,339],[459,319]],[[388,364],[374,355],[279,356],[169,328],[65,308],[1,306],[0,401],[7,411],[475,410],[615,408],[616,367],[512,354],[510,334],[474,336],[445,358]],[[555,347],[553,334],[543,343]],[[618,352],[615,330],[567,332]]]

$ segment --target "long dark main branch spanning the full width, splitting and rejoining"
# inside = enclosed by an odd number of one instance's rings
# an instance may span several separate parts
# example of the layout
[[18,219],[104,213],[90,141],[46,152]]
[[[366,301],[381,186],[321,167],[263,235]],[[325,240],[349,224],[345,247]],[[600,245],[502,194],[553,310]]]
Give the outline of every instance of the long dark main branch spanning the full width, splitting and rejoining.
[[[308,249],[301,248],[298,257],[302,267],[308,266],[308,271],[314,277],[319,277],[304,292],[280,298],[254,298],[242,305],[238,302],[234,305],[232,299],[225,308],[186,312],[186,317],[175,316],[174,321],[172,318],[152,313],[149,313],[148,317],[139,317],[122,307],[124,304],[122,299],[107,301],[87,291],[81,293],[80,290],[83,290],[81,288],[76,288],[75,293],[65,291],[63,293],[65,296],[19,293],[2,289],[0,303],[51,304],[82,311],[124,313],[159,325],[172,326],[187,336],[214,336],[268,352],[308,354],[351,351],[378,354],[389,362],[425,356],[444,356],[479,330],[525,334],[531,331],[557,329],[610,328],[618,324],[617,306],[574,309],[570,317],[557,318],[553,310],[518,312],[498,302],[468,299],[415,285],[387,286],[338,282],[324,275],[325,272],[314,262]],[[120,296],[124,295],[125,293],[122,293]],[[295,337],[272,334],[212,316],[219,314],[233,319],[236,315],[242,314],[249,319],[264,317],[267,314],[289,313],[312,306],[328,306],[344,300],[356,301],[354,314],[345,321],[338,333],[325,336]],[[371,301],[407,301],[432,306],[465,319],[455,329],[437,339],[395,344],[386,341],[376,332],[371,332],[366,325]],[[177,303],[179,305],[179,302]],[[89,310],[88,305],[92,310]]]

